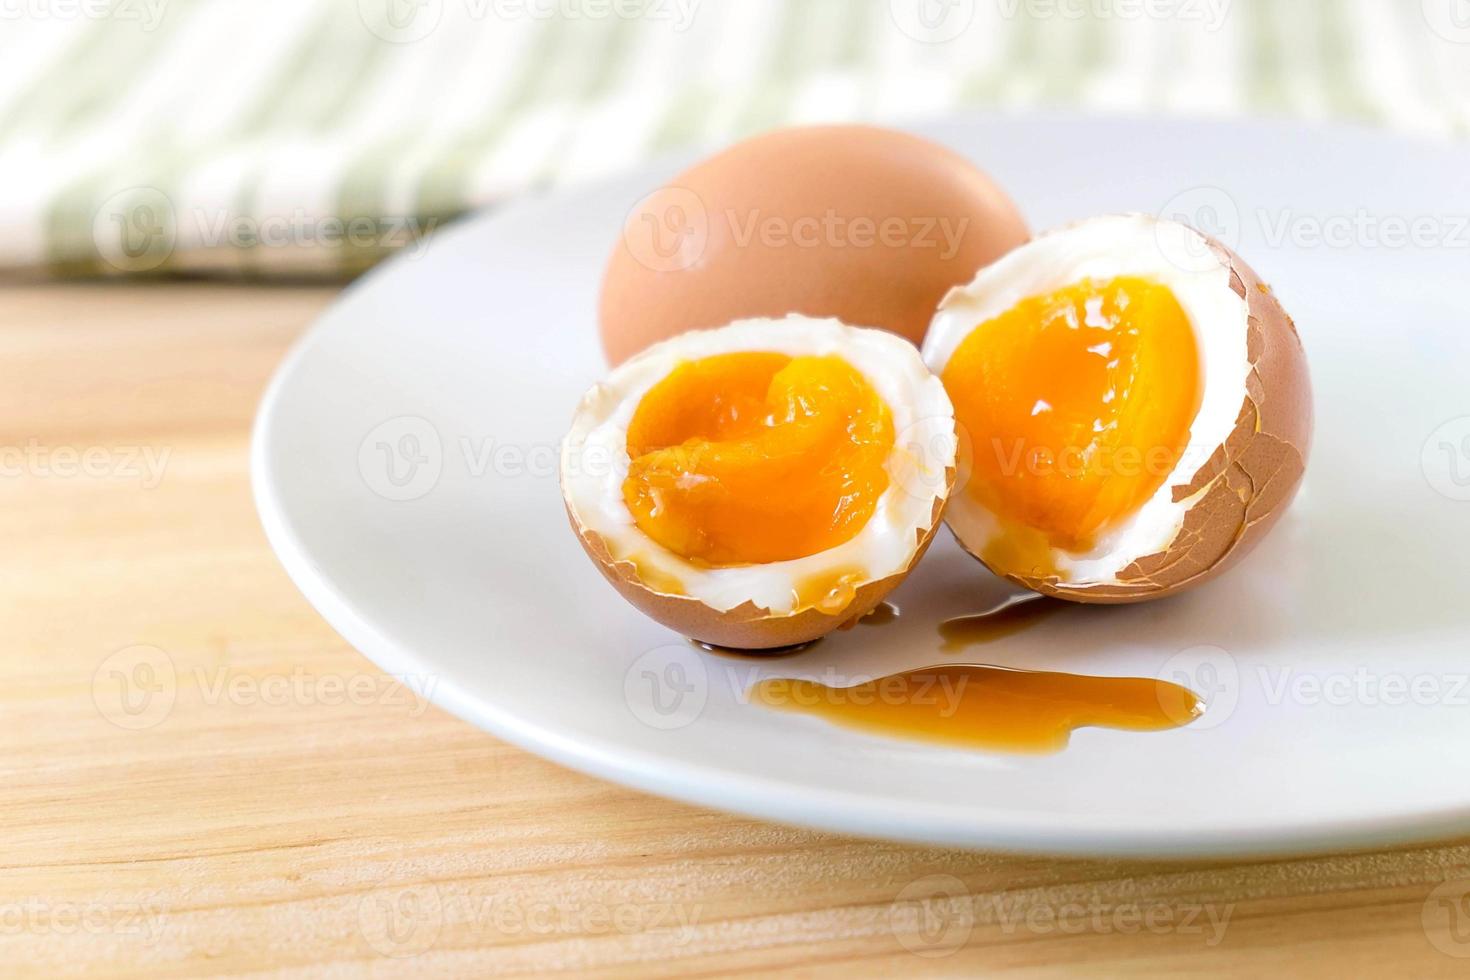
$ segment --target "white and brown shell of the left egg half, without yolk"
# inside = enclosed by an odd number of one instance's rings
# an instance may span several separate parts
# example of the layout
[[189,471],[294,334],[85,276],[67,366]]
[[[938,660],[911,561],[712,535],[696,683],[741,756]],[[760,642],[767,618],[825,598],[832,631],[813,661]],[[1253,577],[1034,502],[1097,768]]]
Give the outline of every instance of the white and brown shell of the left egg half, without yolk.
[[[894,420],[889,485],[850,541],[789,561],[709,567],[644,535],[622,500],[626,426],[642,395],[679,360],[732,351],[839,354],[873,385]],[[594,386],[562,451],[562,495],[584,551],[617,592],[650,619],[716,646],[773,649],[806,644],[870,613],[928,550],[956,479],[954,408],[944,385],[904,339],[801,316],[738,320],[657,344]],[[607,455],[609,466],[578,464]],[[798,605],[795,585],[863,563],[839,608]],[[651,573],[650,573],[651,570]]]

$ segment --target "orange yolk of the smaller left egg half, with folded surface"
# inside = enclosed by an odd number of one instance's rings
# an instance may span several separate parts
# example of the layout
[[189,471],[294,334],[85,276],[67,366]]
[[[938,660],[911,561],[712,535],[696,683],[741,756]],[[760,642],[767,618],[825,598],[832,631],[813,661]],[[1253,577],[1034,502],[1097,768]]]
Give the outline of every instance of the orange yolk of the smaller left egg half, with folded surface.
[[892,448],[888,406],[841,357],[719,354],[681,363],[638,403],[623,500],[691,561],[801,558],[863,529]]

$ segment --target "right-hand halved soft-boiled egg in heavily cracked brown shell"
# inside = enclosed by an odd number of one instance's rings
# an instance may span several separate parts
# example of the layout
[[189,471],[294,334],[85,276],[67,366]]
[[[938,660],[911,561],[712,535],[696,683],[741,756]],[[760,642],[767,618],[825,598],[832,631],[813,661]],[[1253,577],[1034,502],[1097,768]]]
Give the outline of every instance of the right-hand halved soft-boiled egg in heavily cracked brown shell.
[[1119,215],[1033,238],[950,291],[923,354],[961,445],[945,522],[1038,592],[1133,602],[1205,582],[1301,482],[1297,328],[1186,225]]

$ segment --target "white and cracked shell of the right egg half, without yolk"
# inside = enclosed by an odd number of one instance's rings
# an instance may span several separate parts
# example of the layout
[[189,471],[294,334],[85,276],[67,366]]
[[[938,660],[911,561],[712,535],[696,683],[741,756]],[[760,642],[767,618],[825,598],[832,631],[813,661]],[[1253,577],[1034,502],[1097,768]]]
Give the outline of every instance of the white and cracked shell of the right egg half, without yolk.
[[[1085,239],[1080,247],[1055,248],[1048,254],[1048,245],[1069,244],[1072,237]],[[1191,310],[1189,292],[1227,289],[1227,301],[1217,309],[1229,309],[1230,316],[1191,316],[1207,361],[1205,403],[1197,416],[1197,426],[1205,430],[1192,429],[1189,450],[1145,508],[1076,563],[1082,574],[1064,579],[991,570],[1045,595],[1117,604],[1175,595],[1233,567],[1286,511],[1301,483],[1311,447],[1311,381],[1291,316],[1270,287],[1220,241],[1186,225],[1151,216],[1104,216],[1041,235],[982,270],[970,285],[953,289],[941,304],[931,328],[931,342],[925,345],[926,360],[935,373],[942,372],[960,339],[983,322],[985,317],[972,319],[964,326],[976,298],[1005,291],[1008,278],[1020,276],[1030,264],[1025,256],[1029,250],[1060,263],[1045,273],[1054,282],[1038,282],[1029,291],[1023,287],[1025,295],[1060,288],[1089,275],[1108,278],[1158,272],[1186,311]],[[1003,309],[1010,304],[1007,301]],[[956,331],[963,332],[954,336]],[[1222,351],[1239,360],[1238,370],[1233,364],[1222,367],[1208,363]],[[1205,419],[1205,407],[1211,401],[1219,419],[1213,423]],[[1233,414],[1225,414],[1230,408]],[[957,492],[947,523],[960,545],[980,558],[986,545],[985,522],[966,520],[966,504],[966,504],[970,501],[963,489]],[[1141,522],[1145,511],[1148,522]]]

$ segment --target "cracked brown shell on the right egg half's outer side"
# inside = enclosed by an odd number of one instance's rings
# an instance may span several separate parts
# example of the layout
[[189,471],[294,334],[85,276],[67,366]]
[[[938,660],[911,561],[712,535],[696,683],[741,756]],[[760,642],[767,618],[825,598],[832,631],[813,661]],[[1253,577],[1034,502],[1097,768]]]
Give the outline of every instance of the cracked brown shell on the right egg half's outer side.
[[1176,595],[1235,566],[1297,495],[1313,423],[1311,379],[1297,325],[1239,256],[1205,238],[1230,267],[1230,288],[1245,300],[1251,372],[1235,429],[1189,483],[1175,489],[1176,501],[1201,489],[1204,495],[1185,514],[1169,547],[1130,563],[1117,573],[1117,583],[1076,588],[1055,577],[1001,573],[1011,582],[1076,602],[1139,602]]

